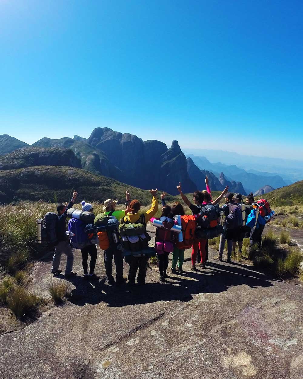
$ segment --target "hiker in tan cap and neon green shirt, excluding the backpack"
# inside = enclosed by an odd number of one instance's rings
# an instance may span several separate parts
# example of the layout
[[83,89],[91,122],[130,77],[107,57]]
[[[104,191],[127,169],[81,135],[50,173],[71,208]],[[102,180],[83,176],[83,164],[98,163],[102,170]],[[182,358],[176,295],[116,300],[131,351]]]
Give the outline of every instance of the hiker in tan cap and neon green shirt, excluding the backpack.
[[[125,215],[127,215],[129,211],[129,204],[130,204],[130,193],[126,191],[125,194],[126,197],[126,203],[125,205],[127,208],[125,210],[116,210],[116,204],[117,201],[114,199],[107,199],[104,202],[103,210],[104,215],[108,217],[115,217],[117,220],[121,220],[124,218]],[[96,217],[96,219],[98,216]],[[113,233],[115,232],[114,230],[110,233],[107,232],[106,234],[109,236],[108,238],[108,247],[104,249],[104,265],[105,265],[105,270],[106,270],[106,276],[108,279],[108,284],[109,285],[114,285],[115,283],[117,285],[120,285],[124,282],[126,282],[127,278],[123,277],[123,255],[121,250],[118,249],[121,240],[118,235],[118,233]],[[102,248],[100,244],[100,248]],[[113,258],[114,258],[114,263],[116,266],[116,281],[113,277]]]

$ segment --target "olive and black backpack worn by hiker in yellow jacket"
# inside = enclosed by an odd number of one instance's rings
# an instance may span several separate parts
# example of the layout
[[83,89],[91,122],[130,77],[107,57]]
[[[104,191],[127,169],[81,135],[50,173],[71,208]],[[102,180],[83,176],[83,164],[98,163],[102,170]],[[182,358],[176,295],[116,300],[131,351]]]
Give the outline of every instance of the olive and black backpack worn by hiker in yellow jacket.
[[[149,249],[148,243],[151,237],[146,232],[146,223],[144,214],[140,215],[137,222],[131,223],[128,216],[125,216],[123,223],[119,225],[121,235],[121,247],[123,255],[133,255],[134,257],[143,257],[146,254],[154,255],[155,249]],[[143,252],[145,251],[145,252]]]

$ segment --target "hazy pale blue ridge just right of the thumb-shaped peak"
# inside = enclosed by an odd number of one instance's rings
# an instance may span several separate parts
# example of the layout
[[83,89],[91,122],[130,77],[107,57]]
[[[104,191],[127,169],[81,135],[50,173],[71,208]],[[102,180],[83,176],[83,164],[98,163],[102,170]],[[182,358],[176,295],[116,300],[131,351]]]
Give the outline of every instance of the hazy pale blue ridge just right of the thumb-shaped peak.
[[241,182],[244,188],[249,189],[249,191],[255,192],[264,185],[270,185],[273,188],[280,188],[287,185],[287,183],[279,175],[263,176],[252,174],[239,168],[235,164],[230,166],[223,164],[221,162],[211,163],[205,157],[195,157],[193,155],[188,155],[195,164],[200,169],[205,169],[213,172],[218,177],[218,172],[224,172],[225,176]]

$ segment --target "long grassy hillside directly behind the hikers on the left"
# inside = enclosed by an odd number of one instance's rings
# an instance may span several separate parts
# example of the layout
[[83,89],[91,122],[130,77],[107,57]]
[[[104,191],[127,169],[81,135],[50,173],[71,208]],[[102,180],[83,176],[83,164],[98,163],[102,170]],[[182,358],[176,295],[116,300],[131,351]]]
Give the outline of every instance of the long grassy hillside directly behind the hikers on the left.
[[[155,183],[155,186],[157,183]],[[37,166],[0,171],[0,202],[17,200],[52,200],[66,202],[71,191],[78,191],[78,200],[104,201],[109,197],[124,201],[128,189],[132,199],[143,205],[151,203],[149,191],[132,187],[117,180],[65,166]],[[160,191],[159,191],[160,194]],[[167,200],[176,199],[168,195]]]

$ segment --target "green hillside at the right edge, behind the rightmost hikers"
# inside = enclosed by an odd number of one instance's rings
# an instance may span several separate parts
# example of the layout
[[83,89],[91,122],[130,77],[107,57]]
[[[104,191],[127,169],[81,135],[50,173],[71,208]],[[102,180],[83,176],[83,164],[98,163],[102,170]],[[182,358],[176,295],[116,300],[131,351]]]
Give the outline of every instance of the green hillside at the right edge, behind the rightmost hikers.
[[303,180],[275,189],[262,197],[266,197],[271,206],[301,205],[303,204]]

